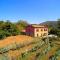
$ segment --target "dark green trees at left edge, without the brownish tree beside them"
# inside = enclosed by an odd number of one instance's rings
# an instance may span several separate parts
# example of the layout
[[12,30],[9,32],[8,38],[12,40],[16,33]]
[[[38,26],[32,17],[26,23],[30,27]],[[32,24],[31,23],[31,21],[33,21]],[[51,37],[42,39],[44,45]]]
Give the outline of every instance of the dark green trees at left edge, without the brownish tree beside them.
[[20,31],[17,29],[15,23],[0,21],[0,39],[18,34],[20,34]]

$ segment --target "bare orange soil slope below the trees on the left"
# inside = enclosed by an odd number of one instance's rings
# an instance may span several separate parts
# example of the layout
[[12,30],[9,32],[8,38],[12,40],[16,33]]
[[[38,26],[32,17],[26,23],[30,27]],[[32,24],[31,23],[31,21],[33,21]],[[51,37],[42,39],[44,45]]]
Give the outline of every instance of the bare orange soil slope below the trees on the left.
[[0,40],[0,47],[5,47],[14,43],[25,43],[31,40],[32,40],[32,37],[26,36],[26,35],[10,36],[10,37],[6,37],[3,40]]

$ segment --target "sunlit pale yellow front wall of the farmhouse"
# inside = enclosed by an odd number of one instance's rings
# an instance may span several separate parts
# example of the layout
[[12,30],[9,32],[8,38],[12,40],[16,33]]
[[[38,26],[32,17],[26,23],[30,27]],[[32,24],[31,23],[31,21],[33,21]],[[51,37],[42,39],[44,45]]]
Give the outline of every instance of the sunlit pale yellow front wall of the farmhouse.
[[[37,31],[37,29],[38,29],[38,31]],[[42,31],[41,31],[41,29],[42,29]],[[44,29],[47,29],[47,31],[44,31]],[[44,34],[46,34],[45,37],[48,36],[48,28],[35,28],[34,37],[43,37]]]

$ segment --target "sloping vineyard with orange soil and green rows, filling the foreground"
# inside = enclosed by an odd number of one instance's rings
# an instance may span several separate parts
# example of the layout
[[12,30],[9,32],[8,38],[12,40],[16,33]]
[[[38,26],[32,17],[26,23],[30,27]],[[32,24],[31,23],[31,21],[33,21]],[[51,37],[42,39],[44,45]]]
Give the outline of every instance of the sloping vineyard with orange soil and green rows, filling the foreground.
[[0,60],[59,60],[59,42],[58,38],[7,37],[0,41]]

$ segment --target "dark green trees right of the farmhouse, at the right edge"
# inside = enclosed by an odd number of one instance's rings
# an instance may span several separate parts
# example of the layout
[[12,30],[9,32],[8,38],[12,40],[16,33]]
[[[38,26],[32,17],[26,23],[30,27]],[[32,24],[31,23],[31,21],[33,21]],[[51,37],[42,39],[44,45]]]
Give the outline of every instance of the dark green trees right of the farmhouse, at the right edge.
[[57,27],[48,26],[49,34],[54,34],[60,36],[60,19],[57,20]]

